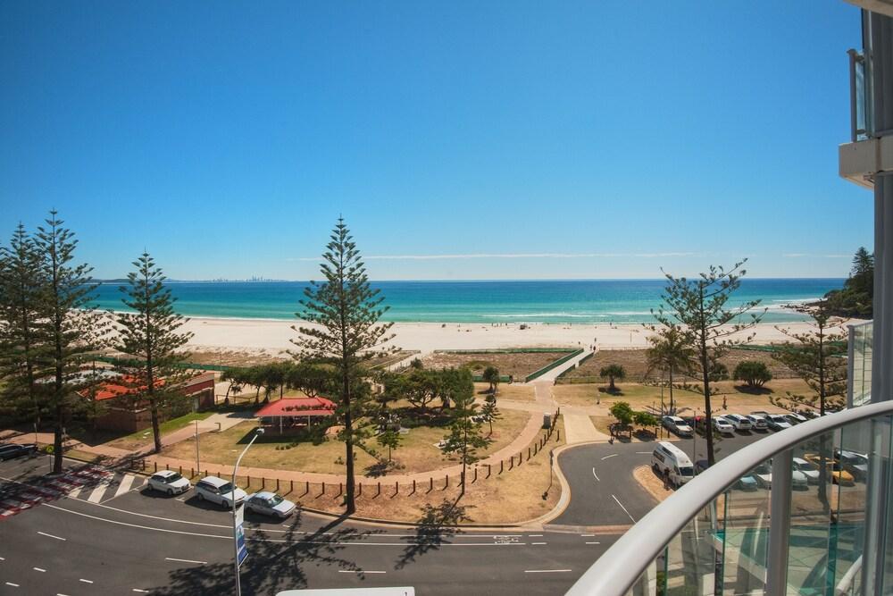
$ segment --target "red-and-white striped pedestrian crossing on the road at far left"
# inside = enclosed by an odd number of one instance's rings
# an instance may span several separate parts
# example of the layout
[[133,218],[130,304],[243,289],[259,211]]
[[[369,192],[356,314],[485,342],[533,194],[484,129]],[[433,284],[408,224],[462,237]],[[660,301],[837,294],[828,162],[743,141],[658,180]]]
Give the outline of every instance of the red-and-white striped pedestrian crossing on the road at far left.
[[34,484],[0,485],[0,520],[7,519],[42,502],[78,499],[104,503],[142,488],[146,477],[108,470],[100,466],[72,469],[55,478],[42,478]]

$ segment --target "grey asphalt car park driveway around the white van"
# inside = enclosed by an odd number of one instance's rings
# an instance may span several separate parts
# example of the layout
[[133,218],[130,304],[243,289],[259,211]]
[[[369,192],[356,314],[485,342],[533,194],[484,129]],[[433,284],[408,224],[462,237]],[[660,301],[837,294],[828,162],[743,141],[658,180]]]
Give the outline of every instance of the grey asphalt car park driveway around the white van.
[[[724,436],[714,443],[716,458],[720,460],[766,435],[767,432],[742,432]],[[688,453],[692,461],[706,458],[706,443],[699,435],[697,440],[673,437],[673,444]],[[558,457],[558,465],[571,485],[571,503],[552,525],[631,525],[645,516],[656,501],[633,478],[632,471],[651,465],[654,446],[654,442],[614,441],[613,445],[581,445],[564,451]]]

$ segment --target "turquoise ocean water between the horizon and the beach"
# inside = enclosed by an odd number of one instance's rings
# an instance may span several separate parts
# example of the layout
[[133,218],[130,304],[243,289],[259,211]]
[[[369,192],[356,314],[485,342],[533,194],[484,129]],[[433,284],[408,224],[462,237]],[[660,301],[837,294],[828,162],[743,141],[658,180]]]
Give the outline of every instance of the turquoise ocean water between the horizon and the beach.
[[[730,302],[761,299],[767,323],[802,320],[781,309],[820,298],[842,279],[746,279]],[[178,281],[177,310],[188,316],[294,319],[303,281]],[[660,305],[663,280],[378,281],[387,321],[431,323],[645,323]],[[104,283],[97,306],[125,310],[118,283]]]

